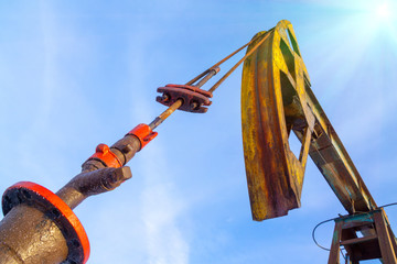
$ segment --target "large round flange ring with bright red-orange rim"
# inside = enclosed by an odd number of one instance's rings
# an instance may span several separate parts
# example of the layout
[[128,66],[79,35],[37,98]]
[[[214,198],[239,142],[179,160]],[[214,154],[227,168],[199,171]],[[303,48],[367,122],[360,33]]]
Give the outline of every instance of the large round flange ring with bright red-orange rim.
[[51,218],[65,237],[68,263],[86,263],[89,256],[89,241],[83,224],[72,209],[54,193],[45,187],[20,182],[9,187],[2,196],[4,216],[15,206],[28,204]]

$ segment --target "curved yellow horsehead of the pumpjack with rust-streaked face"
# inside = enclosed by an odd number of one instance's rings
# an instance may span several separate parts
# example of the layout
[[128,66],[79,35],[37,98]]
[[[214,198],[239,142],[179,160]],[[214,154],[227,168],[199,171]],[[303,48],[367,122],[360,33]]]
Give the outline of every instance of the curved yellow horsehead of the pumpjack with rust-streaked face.
[[[290,131],[287,128],[294,125],[291,121],[300,119],[301,125],[307,122],[300,100],[304,90],[303,74],[299,73],[300,64],[294,59],[298,55],[289,46],[288,26],[288,21],[281,21],[269,32],[254,36],[260,40],[270,34],[248,57],[243,69],[243,142],[255,220],[285,216],[288,210],[300,206],[309,146],[305,144],[301,155],[304,163],[301,163],[288,143]],[[290,32],[294,37],[293,31]],[[248,50],[255,44],[250,44]],[[297,81],[300,96],[293,90]],[[285,106],[286,100],[289,100],[288,106]],[[303,127],[300,128],[302,136]]]

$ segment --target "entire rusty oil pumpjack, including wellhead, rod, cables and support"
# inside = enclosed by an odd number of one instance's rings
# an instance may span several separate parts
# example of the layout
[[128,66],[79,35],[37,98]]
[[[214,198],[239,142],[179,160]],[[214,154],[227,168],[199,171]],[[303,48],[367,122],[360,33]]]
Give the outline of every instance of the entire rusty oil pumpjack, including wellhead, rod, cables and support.
[[[201,89],[219,66],[247,47],[208,90]],[[324,110],[311,90],[296,34],[288,21],[257,33],[250,42],[185,85],[158,88],[157,101],[168,109],[150,124],[139,124],[111,146],[99,144],[82,173],[57,193],[20,182],[2,196],[0,264],[86,263],[87,234],[73,212],[89,196],[110,191],[131,178],[126,164],[151,142],[154,132],[176,109],[204,113],[217,87],[242,64],[242,127],[244,158],[253,219],[286,216],[300,207],[308,156],[347,211],[334,219],[329,264],[379,258],[396,264],[397,244],[387,216],[365,186]],[[299,156],[290,150],[293,134]]]

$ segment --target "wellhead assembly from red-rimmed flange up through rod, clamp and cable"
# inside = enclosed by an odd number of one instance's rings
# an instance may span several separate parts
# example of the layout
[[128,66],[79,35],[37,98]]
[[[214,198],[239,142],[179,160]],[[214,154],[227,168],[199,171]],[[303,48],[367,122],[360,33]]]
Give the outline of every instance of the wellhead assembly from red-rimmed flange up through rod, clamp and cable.
[[[211,105],[208,98],[212,92],[201,90],[200,87],[219,72],[218,65],[248,44],[185,86],[169,85],[159,90],[164,91],[162,101],[169,100],[165,103],[170,106],[169,109],[149,125],[139,124],[110,147],[99,144],[82,165],[82,173],[56,195],[33,183],[19,183],[10,187],[2,199],[4,218],[0,224],[0,264],[85,263],[89,243],[72,209],[87,197],[112,190],[131,178],[130,168],[125,165],[155,138],[157,132],[152,130],[183,103],[185,106],[181,110],[187,105],[189,111],[205,112],[203,106]],[[180,89],[180,96],[175,96],[176,89]]]

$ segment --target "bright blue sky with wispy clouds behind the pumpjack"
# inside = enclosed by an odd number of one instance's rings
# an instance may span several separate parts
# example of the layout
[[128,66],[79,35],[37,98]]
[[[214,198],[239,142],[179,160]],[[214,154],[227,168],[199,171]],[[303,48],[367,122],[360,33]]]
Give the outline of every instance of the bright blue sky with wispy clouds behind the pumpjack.
[[[312,89],[378,205],[397,201],[397,15],[382,1],[9,1],[0,4],[0,189],[56,191],[183,84],[291,21]],[[386,11],[385,11],[386,10]],[[223,67],[221,73],[228,68]],[[129,163],[132,179],[75,212],[88,263],[325,263],[313,227],[345,213],[309,161],[302,208],[250,217],[239,68],[206,114],[176,112]],[[397,227],[397,208],[388,208]],[[333,224],[320,228],[329,246]]]

